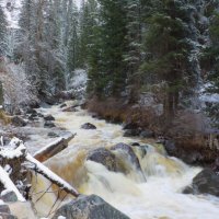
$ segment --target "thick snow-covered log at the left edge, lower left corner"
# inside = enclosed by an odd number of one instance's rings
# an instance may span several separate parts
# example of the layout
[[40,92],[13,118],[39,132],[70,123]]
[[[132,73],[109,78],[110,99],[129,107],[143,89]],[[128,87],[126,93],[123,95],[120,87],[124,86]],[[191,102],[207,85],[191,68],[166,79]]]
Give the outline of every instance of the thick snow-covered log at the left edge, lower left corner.
[[2,183],[5,189],[14,192],[14,194],[18,197],[18,200],[26,201],[1,165],[0,165],[0,182]]

